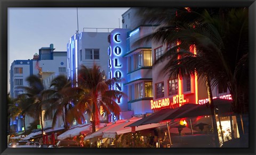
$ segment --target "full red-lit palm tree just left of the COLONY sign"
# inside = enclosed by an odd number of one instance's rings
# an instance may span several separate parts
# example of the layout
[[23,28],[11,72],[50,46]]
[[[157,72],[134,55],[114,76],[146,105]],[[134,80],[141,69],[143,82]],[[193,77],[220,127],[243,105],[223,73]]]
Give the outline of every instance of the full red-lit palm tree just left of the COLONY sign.
[[69,111],[69,122],[75,118],[81,124],[84,119],[83,113],[87,111],[91,116],[92,132],[95,132],[95,126],[99,124],[101,107],[107,114],[114,112],[118,117],[120,108],[116,100],[119,95],[125,94],[110,89],[115,81],[115,78],[105,81],[99,66],[87,68],[82,65],[78,72],[78,96],[73,100],[74,107]]

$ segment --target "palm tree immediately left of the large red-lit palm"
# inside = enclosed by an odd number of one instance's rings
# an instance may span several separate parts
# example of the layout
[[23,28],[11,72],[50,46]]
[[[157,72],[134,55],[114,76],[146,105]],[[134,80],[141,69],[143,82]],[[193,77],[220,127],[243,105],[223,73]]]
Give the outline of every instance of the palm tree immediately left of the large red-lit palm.
[[[46,91],[49,96],[49,103],[47,109],[54,111],[52,120],[52,127],[55,126],[58,116],[62,116],[64,127],[67,130],[69,123],[67,120],[68,110],[71,108],[69,101],[72,100],[76,93],[71,89],[71,83],[65,75],[59,75],[51,81],[50,89]],[[45,94],[46,94],[45,93]],[[51,116],[52,111],[47,110],[45,116]]]

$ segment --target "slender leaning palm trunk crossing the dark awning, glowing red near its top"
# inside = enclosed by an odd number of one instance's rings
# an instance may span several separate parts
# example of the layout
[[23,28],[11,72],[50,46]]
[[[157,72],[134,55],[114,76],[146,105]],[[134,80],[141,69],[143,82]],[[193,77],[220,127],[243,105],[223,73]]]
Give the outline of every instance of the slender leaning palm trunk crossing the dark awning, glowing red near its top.
[[210,108],[211,108],[215,147],[219,148],[220,142],[219,142],[217,121],[216,121],[216,117],[215,117],[215,110],[214,110],[215,107],[214,107],[214,103],[213,103],[211,83],[210,83],[208,75],[206,75],[206,87],[207,87],[207,94],[208,94],[208,97],[209,97]]

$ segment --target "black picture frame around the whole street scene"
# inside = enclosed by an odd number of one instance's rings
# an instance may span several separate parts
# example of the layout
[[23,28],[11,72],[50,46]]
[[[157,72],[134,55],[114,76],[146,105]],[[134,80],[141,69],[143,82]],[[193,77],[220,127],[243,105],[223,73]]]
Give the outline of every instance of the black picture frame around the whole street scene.
[[[249,7],[250,138],[249,148],[7,148],[7,9],[8,7]],[[0,153],[1,154],[255,154],[255,0],[1,0],[0,39]]]

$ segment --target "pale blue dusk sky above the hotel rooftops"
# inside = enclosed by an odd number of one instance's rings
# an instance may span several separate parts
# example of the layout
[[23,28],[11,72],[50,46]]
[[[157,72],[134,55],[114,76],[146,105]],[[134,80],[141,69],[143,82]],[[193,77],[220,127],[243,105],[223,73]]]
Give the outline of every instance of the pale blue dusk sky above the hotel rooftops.
[[[122,14],[128,9],[78,7],[78,30],[82,32],[83,28],[122,28]],[[9,70],[14,60],[33,59],[39,48],[49,47],[50,44],[53,44],[55,51],[67,51],[69,38],[77,30],[77,9],[9,8],[7,26],[9,92]]]

